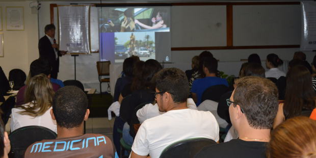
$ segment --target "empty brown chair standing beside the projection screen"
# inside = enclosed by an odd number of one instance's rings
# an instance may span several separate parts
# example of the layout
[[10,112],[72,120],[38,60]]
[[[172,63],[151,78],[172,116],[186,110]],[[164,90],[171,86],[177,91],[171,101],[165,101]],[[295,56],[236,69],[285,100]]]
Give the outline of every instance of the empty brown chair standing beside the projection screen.
[[[98,75],[99,75],[99,82],[100,82],[100,94],[102,93],[102,87],[101,84],[103,82],[108,83],[108,91],[110,92],[111,87],[110,87],[110,64],[111,61],[104,61],[104,62],[96,62],[96,68],[98,70]],[[105,78],[102,78],[102,76],[107,76]]]

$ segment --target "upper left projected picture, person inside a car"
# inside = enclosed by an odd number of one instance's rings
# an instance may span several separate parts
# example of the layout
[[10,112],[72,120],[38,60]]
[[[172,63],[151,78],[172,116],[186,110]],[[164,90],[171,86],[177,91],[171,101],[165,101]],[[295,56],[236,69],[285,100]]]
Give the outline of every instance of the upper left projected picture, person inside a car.
[[134,32],[134,9],[133,8],[107,8],[101,11],[102,32]]

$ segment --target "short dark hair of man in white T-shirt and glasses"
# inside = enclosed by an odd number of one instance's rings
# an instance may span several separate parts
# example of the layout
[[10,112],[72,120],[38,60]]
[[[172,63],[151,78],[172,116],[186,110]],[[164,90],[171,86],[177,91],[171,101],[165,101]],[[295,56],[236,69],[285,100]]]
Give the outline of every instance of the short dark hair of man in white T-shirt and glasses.
[[189,97],[189,82],[185,72],[177,68],[164,68],[152,78],[156,89],[170,92],[173,102],[185,102]]

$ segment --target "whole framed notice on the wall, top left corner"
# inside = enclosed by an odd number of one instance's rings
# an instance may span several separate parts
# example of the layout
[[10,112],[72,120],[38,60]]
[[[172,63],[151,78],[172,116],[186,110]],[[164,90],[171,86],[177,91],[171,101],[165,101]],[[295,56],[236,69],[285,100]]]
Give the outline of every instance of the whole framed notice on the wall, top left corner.
[[24,8],[6,7],[7,30],[24,30]]

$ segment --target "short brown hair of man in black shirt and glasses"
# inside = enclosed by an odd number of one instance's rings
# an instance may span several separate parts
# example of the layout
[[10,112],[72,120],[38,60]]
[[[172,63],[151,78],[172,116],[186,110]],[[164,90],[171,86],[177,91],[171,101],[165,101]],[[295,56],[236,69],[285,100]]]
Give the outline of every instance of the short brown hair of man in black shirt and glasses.
[[234,102],[239,104],[249,122],[256,129],[270,129],[278,111],[278,89],[267,78],[242,77],[235,82]]

